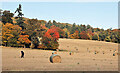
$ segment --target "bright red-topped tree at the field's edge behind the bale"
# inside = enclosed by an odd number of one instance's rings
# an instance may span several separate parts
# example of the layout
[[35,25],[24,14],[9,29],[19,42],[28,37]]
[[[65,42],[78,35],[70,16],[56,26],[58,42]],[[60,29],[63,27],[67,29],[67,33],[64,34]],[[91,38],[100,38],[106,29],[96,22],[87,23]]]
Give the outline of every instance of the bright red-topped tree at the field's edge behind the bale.
[[58,49],[59,33],[57,29],[51,28],[44,34],[42,42],[48,49]]

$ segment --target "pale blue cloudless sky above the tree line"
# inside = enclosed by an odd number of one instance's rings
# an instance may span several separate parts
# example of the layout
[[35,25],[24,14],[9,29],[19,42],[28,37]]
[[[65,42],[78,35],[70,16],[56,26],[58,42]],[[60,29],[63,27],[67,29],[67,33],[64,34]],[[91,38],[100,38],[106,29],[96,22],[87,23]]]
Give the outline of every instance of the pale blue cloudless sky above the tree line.
[[31,19],[118,28],[118,2],[2,2],[2,10],[14,13],[19,4],[24,17]]

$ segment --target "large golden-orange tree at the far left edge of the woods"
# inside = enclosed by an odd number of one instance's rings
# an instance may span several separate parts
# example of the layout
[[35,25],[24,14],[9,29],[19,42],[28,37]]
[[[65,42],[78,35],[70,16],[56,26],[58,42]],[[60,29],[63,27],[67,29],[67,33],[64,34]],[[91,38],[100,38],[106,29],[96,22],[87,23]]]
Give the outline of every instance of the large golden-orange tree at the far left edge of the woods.
[[22,28],[18,25],[6,23],[2,27],[2,44],[5,46],[19,46],[18,38]]

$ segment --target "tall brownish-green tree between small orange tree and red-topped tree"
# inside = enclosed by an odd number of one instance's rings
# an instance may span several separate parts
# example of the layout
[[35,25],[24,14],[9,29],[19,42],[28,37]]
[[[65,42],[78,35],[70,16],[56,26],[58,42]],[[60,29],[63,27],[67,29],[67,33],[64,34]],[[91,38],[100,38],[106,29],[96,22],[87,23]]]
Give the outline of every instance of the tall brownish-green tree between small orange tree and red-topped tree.
[[38,46],[39,41],[38,41],[38,36],[40,36],[40,23],[38,23],[37,19],[28,19],[26,21],[26,29],[25,33],[29,35],[29,39],[31,40],[31,45],[34,45],[35,47]]

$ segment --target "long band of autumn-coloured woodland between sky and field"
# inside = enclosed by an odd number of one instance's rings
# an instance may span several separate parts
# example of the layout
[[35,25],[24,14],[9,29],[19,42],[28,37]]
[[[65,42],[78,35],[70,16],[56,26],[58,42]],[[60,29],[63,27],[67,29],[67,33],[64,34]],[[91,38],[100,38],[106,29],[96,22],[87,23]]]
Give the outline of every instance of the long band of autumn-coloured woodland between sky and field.
[[98,40],[120,43],[120,29],[100,29],[90,25],[60,23],[19,17],[10,11],[2,11],[2,45],[57,49],[59,38]]

